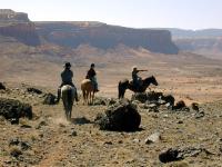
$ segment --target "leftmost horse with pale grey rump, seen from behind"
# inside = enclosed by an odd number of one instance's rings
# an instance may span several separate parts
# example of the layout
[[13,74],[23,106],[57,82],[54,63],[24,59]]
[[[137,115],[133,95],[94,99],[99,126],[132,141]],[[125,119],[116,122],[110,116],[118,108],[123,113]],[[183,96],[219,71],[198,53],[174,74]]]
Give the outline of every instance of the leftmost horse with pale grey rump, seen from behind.
[[67,120],[70,120],[72,116],[72,106],[75,99],[75,92],[77,89],[72,86],[64,85],[61,87],[61,98],[63,101]]

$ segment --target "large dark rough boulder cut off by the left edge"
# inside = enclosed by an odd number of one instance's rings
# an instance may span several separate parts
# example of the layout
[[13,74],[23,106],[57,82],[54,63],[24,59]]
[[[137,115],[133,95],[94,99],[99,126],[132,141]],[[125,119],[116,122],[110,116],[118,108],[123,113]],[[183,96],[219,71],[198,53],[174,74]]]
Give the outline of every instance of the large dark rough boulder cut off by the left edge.
[[31,119],[32,107],[19,100],[0,98],[0,116],[11,120],[11,122],[19,122],[21,117]]

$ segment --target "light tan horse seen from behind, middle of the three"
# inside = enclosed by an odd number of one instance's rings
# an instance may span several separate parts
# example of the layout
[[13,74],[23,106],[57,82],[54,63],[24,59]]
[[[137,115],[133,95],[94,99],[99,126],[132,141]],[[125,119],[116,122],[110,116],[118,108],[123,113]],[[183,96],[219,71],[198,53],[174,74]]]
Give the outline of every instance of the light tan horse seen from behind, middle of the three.
[[94,86],[90,79],[84,79],[81,82],[83,104],[93,104],[94,100]]

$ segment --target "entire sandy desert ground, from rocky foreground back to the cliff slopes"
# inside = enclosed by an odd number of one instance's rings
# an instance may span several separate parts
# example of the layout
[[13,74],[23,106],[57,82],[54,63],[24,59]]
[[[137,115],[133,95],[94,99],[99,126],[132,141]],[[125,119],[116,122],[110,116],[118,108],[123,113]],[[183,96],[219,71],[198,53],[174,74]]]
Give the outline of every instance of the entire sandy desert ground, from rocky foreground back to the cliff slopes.
[[[113,55],[111,55],[113,56]],[[137,53],[137,57],[114,57],[110,55],[93,58],[53,58],[44,56],[1,56],[0,81],[6,82],[10,92],[1,97],[20,99],[33,107],[33,120],[23,119],[20,125],[0,120],[0,166],[222,166],[221,107],[222,107],[222,62],[191,53],[164,56]],[[19,58],[19,59],[18,59]],[[62,63],[73,65],[74,84],[80,92],[80,82],[91,62],[95,62],[100,92],[97,96],[117,97],[120,79],[131,78],[131,67],[148,69],[141,77],[155,76],[159,86],[152,90],[173,95],[178,100],[202,104],[203,118],[196,119],[193,112],[149,112],[140,109],[141,128],[135,132],[101,131],[91,124],[105,106],[82,106],[73,108],[72,121],[63,118],[62,105],[42,105],[42,97],[27,95],[22,84],[56,92],[60,85],[59,73]],[[131,91],[127,91],[130,98]],[[84,117],[90,122],[79,121]],[[43,124],[43,125],[42,125]],[[31,128],[23,128],[29,125]],[[162,139],[145,145],[144,139],[160,131]],[[77,132],[77,136],[73,135]],[[9,141],[20,138],[31,148],[22,151],[19,159],[10,156]],[[170,147],[194,146],[208,149],[212,155],[200,154],[184,160],[162,164],[160,151]]]

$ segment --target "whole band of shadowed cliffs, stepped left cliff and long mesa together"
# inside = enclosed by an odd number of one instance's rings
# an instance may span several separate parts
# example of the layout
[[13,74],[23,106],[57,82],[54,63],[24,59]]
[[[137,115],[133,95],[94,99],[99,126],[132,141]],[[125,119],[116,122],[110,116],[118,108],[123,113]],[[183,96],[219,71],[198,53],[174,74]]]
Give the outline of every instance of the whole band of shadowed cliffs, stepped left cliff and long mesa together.
[[124,45],[160,53],[179,51],[168,30],[132,29],[88,21],[31,22],[27,13],[10,9],[0,10],[0,36],[12,37],[28,46],[46,42],[71,48],[89,45],[112,49]]

